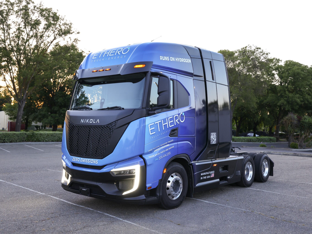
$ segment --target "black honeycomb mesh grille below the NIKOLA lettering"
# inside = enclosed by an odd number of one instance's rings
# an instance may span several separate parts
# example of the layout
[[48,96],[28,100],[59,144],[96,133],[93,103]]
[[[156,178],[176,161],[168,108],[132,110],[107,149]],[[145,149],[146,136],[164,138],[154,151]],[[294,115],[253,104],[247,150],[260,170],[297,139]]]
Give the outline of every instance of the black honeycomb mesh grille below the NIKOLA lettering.
[[117,121],[105,126],[68,123],[69,154],[84,158],[103,158]]

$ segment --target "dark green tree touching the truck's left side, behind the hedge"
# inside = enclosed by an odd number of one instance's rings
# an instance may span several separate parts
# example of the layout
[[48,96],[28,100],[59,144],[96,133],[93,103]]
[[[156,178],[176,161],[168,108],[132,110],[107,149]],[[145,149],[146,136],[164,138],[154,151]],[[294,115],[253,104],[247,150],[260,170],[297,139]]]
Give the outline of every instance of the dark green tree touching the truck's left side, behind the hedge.
[[48,76],[45,87],[36,93],[36,101],[41,103],[37,111],[37,121],[52,124],[52,131],[63,124],[65,113],[71,99],[74,86],[74,71],[84,58],[84,53],[77,48],[77,41],[66,45],[56,44],[49,52]]

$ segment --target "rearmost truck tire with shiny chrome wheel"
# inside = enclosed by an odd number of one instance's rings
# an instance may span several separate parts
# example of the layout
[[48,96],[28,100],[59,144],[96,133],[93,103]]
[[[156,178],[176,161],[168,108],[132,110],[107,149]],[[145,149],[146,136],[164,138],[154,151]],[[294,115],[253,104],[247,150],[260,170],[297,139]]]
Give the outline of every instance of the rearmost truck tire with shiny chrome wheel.
[[255,157],[255,180],[266,182],[270,175],[270,158],[266,154],[257,154]]

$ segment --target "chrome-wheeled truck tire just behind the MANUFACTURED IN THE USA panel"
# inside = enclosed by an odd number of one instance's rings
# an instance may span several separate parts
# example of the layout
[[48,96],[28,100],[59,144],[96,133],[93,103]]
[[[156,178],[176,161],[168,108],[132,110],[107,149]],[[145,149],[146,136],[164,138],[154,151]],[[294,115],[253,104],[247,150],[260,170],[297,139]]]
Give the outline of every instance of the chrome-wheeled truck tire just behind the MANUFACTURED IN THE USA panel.
[[250,155],[244,155],[241,167],[241,181],[237,182],[240,187],[248,188],[255,179],[255,164]]

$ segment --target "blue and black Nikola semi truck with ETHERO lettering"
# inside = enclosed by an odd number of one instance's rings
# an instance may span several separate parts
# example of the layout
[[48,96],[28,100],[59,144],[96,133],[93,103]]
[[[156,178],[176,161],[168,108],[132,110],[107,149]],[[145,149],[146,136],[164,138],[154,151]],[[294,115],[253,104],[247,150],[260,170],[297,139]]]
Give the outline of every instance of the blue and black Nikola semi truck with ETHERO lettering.
[[128,45],[90,53],[73,79],[62,139],[67,191],[172,209],[199,191],[273,176],[266,154],[232,149],[222,54]]

